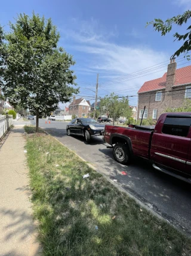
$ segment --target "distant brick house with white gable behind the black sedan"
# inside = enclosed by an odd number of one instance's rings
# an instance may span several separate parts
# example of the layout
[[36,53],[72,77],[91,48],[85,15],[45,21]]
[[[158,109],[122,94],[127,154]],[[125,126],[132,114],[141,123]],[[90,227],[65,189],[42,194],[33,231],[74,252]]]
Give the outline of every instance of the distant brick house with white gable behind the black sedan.
[[69,105],[69,115],[75,115],[78,118],[87,118],[91,112],[90,106],[90,101],[84,98],[76,99],[76,97],[73,97],[73,101]]

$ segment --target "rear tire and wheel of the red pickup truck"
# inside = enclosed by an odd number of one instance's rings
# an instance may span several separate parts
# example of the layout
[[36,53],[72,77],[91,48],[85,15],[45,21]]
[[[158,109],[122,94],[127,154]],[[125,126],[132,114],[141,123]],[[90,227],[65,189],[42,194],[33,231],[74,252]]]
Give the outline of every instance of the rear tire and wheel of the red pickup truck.
[[115,161],[120,164],[129,164],[130,163],[130,151],[127,144],[116,143],[113,147],[113,156]]

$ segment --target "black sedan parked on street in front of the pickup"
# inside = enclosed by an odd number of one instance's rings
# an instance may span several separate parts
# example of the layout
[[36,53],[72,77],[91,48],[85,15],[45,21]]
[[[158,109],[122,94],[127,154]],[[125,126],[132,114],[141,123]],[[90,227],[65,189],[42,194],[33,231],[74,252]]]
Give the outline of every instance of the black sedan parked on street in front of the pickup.
[[75,118],[66,127],[67,135],[80,135],[90,142],[91,137],[102,135],[104,125],[91,118]]

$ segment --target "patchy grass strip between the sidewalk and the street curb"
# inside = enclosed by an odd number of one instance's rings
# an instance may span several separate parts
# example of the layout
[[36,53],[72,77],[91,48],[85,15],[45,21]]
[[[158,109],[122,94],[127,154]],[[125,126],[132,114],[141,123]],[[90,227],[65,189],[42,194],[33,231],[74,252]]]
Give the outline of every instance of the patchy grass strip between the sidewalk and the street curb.
[[140,209],[53,137],[28,134],[26,140],[43,255],[191,255],[189,239]]

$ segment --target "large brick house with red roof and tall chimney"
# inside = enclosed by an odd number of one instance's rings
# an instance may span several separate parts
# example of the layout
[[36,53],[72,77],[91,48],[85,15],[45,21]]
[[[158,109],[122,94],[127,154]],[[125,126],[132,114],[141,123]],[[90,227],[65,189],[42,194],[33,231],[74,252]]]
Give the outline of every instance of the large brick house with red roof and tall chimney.
[[157,120],[168,108],[182,106],[184,100],[191,100],[191,65],[178,68],[175,59],[168,64],[164,76],[147,81],[138,91],[137,119],[143,118]]

